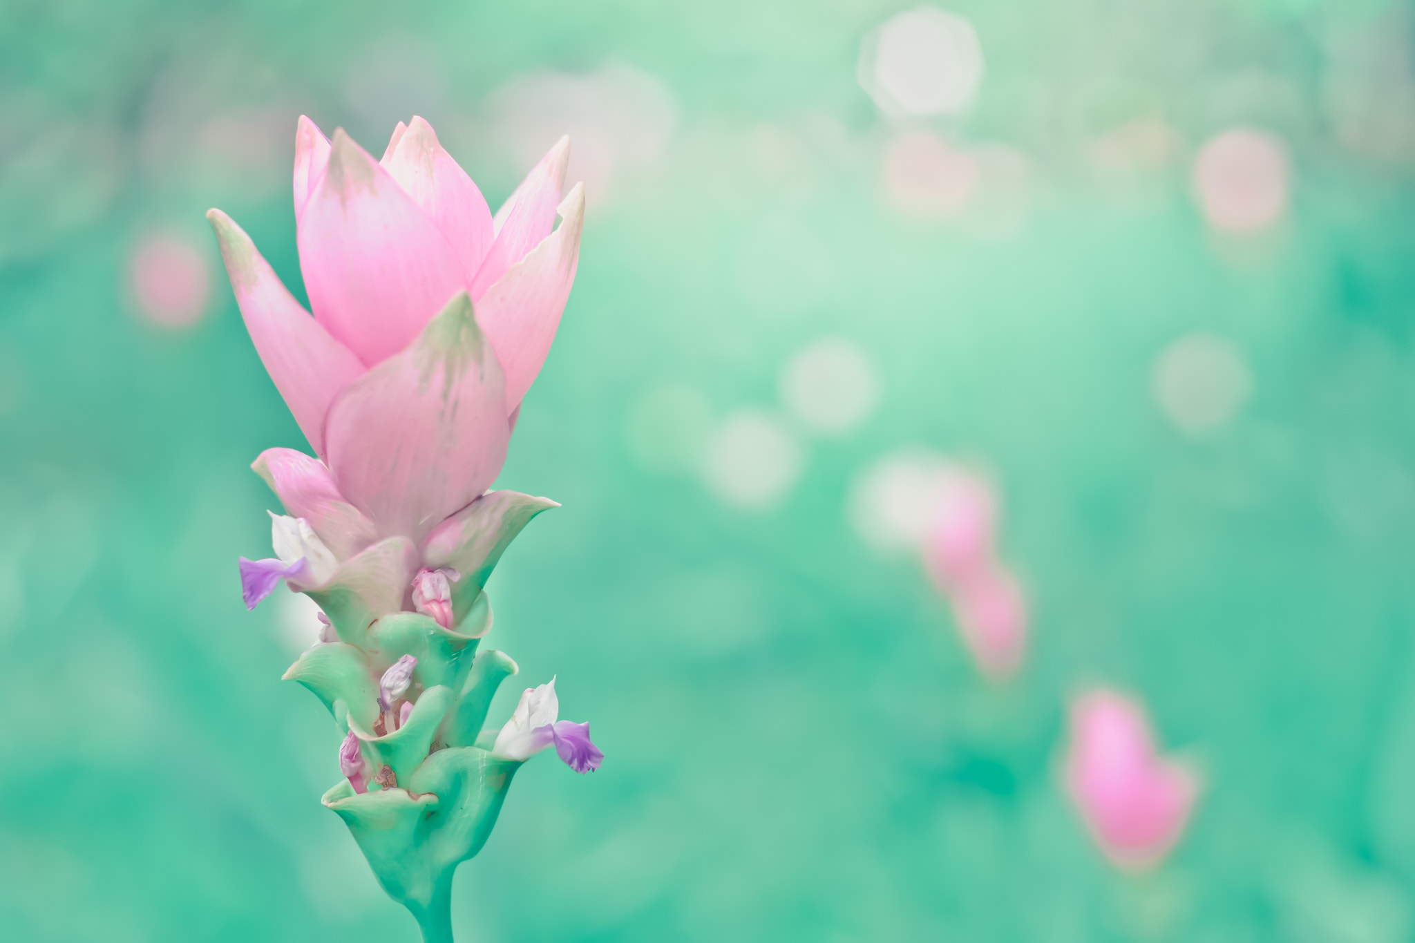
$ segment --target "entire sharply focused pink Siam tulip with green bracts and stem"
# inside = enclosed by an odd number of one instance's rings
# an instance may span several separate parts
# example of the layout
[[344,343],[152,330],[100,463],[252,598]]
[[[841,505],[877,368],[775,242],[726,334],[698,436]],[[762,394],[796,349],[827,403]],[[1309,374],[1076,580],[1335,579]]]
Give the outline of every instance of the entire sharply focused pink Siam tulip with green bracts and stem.
[[559,506],[487,488],[574,281],[584,189],[560,198],[567,156],[566,139],[492,215],[423,119],[374,160],[301,117],[296,242],[313,315],[235,222],[207,215],[314,452],[253,462],[286,515],[272,515],[275,557],[242,557],[242,595],[253,608],[284,580],[318,604],[320,642],[284,677],[345,731],[344,779],[323,803],[427,942],[451,940],[453,874],[485,844],[519,766],[552,744],[577,772],[603,761],[589,724],[558,720],[553,683],[483,730],[518,670],[478,650],[487,578]]

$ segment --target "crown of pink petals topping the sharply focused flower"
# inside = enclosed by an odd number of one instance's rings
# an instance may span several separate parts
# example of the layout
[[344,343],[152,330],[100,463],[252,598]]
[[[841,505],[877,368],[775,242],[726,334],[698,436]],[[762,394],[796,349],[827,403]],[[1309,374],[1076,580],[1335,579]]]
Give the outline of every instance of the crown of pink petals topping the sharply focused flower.
[[501,471],[579,262],[584,189],[560,201],[567,156],[562,139],[492,216],[423,119],[378,161],[301,117],[294,209],[314,317],[235,222],[207,213],[250,339],[323,459],[270,450],[258,471],[338,560],[422,540]]

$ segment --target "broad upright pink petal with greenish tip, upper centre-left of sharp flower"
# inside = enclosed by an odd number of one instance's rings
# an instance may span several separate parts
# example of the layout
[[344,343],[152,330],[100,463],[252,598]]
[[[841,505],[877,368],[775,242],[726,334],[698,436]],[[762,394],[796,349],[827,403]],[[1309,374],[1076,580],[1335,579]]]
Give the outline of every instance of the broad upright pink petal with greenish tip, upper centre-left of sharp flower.
[[297,242],[314,317],[368,366],[408,346],[463,290],[451,246],[344,129]]

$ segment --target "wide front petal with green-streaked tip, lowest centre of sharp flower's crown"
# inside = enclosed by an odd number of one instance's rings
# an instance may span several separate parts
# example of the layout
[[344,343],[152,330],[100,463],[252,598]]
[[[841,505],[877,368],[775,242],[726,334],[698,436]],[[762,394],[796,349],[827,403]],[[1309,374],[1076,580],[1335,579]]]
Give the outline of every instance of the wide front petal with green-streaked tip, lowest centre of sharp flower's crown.
[[420,539],[497,478],[504,380],[466,291],[330,407],[330,469],[379,534]]

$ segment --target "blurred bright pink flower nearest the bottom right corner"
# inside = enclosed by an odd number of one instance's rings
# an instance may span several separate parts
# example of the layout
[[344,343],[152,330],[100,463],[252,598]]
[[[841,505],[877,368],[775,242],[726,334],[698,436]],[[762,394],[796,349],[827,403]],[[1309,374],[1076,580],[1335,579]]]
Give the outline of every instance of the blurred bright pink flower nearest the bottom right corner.
[[1155,752],[1140,708],[1114,691],[1071,705],[1067,789],[1111,861],[1157,864],[1179,840],[1199,792],[1179,763]]

